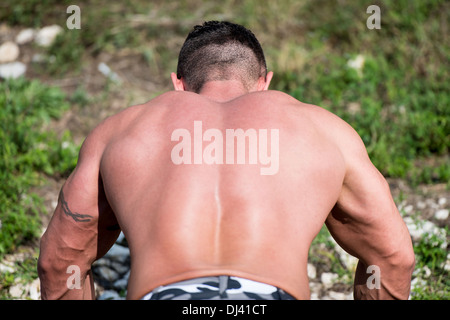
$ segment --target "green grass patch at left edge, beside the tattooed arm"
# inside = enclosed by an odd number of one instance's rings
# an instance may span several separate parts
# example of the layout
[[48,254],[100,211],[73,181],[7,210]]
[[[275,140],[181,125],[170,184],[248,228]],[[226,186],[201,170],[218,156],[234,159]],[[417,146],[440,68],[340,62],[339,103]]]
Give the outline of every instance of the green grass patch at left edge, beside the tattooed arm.
[[0,92],[1,257],[38,236],[45,209],[30,190],[45,175],[72,171],[78,148],[69,132],[43,130],[69,108],[61,90],[21,78],[0,83]]

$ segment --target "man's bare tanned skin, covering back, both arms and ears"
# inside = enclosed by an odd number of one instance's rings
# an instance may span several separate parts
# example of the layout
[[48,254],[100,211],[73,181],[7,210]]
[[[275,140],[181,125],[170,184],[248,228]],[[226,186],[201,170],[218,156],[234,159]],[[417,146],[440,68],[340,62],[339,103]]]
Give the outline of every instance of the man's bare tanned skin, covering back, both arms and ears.
[[[122,230],[130,248],[128,299],[158,286],[233,275],[309,299],[311,242],[325,223],[359,259],[355,299],[407,299],[414,253],[388,184],[358,134],[318,106],[238,80],[174,91],[107,118],[86,138],[42,237],[43,299],[93,299],[91,265]],[[279,130],[279,169],[259,164],[174,164],[174,130]],[[203,146],[204,147],[204,146]],[[79,267],[70,288],[68,267]],[[379,267],[370,289],[368,266]]]

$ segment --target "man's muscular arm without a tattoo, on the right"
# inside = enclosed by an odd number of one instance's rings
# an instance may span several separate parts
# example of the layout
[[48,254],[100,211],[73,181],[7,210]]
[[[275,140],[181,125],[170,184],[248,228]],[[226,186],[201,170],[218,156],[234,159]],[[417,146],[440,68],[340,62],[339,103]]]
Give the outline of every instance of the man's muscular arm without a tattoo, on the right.
[[407,299],[414,269],[408,229],[359,135],[339,122],[335,138],[346,173],[326,225],[337,243],[359,259],[354,298]]

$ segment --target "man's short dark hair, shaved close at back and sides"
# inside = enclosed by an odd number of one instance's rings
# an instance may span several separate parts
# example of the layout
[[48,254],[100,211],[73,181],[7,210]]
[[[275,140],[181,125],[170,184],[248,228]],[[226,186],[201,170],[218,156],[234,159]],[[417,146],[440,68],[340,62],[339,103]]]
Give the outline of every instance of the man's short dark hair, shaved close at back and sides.
[[239,77],[245,86],[267,75],[261,44],[245,27],[207,21],[187,36],[178,57],[177,77],[199,93],[207,81]]

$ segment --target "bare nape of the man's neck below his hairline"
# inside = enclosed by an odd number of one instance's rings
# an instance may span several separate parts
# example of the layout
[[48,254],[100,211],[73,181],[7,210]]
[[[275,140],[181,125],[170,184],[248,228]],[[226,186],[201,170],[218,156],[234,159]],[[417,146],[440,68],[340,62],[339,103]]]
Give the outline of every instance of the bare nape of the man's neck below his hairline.
[[247,93],[249,90],[237,80],[208,81],[200,91],[200,95],[217,102],[229,101]]

